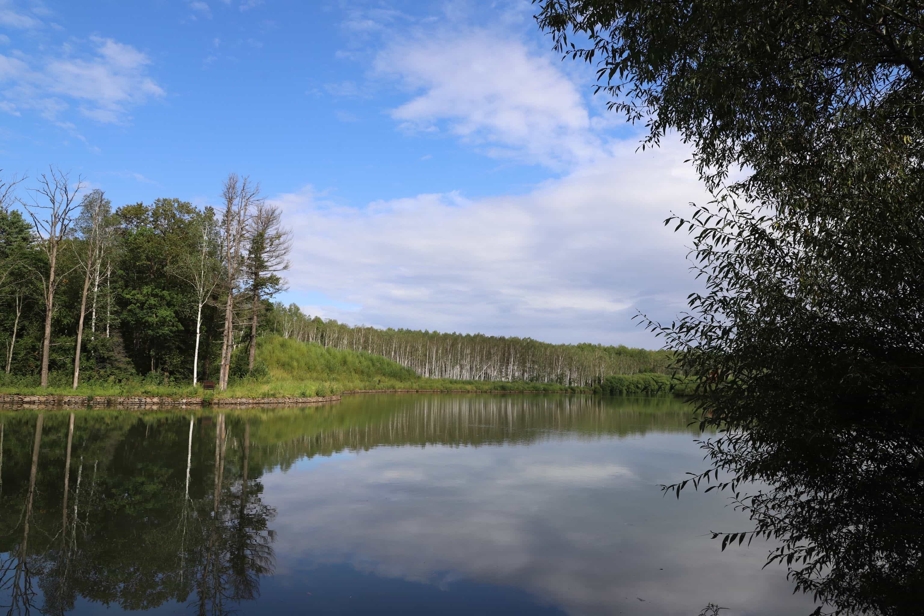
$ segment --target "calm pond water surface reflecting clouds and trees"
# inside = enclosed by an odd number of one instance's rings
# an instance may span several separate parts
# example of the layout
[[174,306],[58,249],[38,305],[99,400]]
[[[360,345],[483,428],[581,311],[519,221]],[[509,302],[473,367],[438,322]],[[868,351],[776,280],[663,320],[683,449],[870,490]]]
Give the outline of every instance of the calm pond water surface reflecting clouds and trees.
[[[70,429],[73,417],[73,429]],[[807,614],[674,400],[0,411],[0,613]],[[68,458],[68,441],[69,458]]]

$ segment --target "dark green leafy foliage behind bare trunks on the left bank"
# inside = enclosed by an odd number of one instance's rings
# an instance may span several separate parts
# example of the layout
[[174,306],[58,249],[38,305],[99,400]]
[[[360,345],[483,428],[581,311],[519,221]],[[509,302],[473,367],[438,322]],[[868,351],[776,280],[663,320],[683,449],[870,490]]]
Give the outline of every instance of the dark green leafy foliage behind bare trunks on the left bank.
[[[84,282],[84,274],[76,266],[78,259],[87,258],[86,236],[90,234],[85,214],[80,214],[76,234],[65,239],[58,253],[59,272],[70,273],[61,280],[55,295],[50,356],[50,369],[58,375],[52,378],[55,383],[63,381],[73,367]],[[204,215],[179,199],[156,199],[151,205],[138,203],[105,214],[105,233],[109,235],[99,255],[99,271],[91,272],[81,344],[82,380],[128,382],[134,375],[151,371],[162,384],[188,379],[196,304],[192,285],[183,274],[186,258],[196,248]],[[0,211],[0,278],[9,273],[6,282],[0,281],[0,370],[6,368],[15,323],[10,372],[21,377],[30,377],[40,369],[44,305],[36,272],[48,267],[30,229],[18,211]],[[21,308],[18,320],[17,305]],[[212,304],[202,310],[203,368],[214,364],[214,341],[220,340],[220,332],[215,330],[216,312]],[[201,374],[207,376],[204,369]]]

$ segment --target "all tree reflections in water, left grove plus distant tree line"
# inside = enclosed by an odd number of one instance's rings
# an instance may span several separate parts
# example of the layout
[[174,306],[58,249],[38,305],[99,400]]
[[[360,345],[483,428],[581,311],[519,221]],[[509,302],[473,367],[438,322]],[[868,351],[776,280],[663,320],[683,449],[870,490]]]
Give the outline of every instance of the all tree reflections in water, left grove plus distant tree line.
[[0,411],[0,613],[64,614],[81,600],[244,610],[274,574],[276,512],[261,483],[274,469],[379,445],[687,430],[683,411],[664,408],[652,400],[614,414],[591,398],[416,396],[192,416]]

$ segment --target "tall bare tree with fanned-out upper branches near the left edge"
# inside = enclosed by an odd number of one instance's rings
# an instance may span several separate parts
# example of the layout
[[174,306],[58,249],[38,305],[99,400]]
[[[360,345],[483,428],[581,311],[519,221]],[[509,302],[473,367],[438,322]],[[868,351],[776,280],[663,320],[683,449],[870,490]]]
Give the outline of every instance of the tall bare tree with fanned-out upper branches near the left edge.
[[[38,269],[36,272],[42,282],[42,295],[45,302],[45,331],[42,339],[42,387],[48,387],[48,356],[52,344],[52,316],[55,311],[55,291],[59,281],[73,271],[57,272],[58,251],[74,222],[74,212],[78,209],[77,195],[84,187],[83,177],[78,176],[75,184],[70,183],[68,174],[49,166],[49,173],[38,177],[39,186],[30,188],[31,203],[19,200],[29,212],[35,232],[40,238],[39,246],[48,257],[48,271]],[[47,202],[47,205],[44,203]],[[76,269],[76,265],[74,268]]]

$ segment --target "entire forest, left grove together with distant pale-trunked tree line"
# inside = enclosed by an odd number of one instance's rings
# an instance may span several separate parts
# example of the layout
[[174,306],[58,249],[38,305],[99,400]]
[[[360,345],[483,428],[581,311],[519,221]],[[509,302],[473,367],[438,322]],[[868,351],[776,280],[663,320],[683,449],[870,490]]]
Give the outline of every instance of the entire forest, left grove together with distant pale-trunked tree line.
[[387,357],[430,379],[593,387],[669,372],[663,352],[351,327],[273,303],[286,289],[291,232],[247,177],[229,175],[216,208],[182,199],[114,208],[83,187],[55,168],[31,184],[0,180],[7,385],[215,380],[224,390],[272,376],[256,356],[267,333]]

